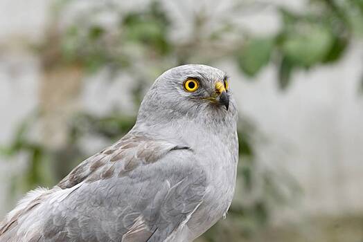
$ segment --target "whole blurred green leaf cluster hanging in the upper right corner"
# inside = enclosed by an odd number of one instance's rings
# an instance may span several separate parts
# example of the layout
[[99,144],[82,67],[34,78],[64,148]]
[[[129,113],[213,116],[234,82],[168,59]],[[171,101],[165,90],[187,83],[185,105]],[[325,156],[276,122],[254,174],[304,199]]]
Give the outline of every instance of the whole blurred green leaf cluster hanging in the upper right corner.
[[[238,54],[241,71],[254,76],[269,61],[275,62],[279,86],[285,89],[294,71],[336,62],[353,37],[362,37],[360,0],[315,0],[308,7],[303,13],[281,8],[283,26],[276,35],[247,40]],[[272,53],[276,58],[271,58]]]

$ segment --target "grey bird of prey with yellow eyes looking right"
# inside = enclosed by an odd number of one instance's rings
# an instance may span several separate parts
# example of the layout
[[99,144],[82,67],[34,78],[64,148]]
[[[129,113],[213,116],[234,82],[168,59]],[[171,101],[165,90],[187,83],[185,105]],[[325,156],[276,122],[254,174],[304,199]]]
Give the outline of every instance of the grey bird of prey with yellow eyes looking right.
[[55,187],[28,192],[1,222],[0,241],[194,241],[231,205],[237,122],[224,71],[165,71],[134,127]]

